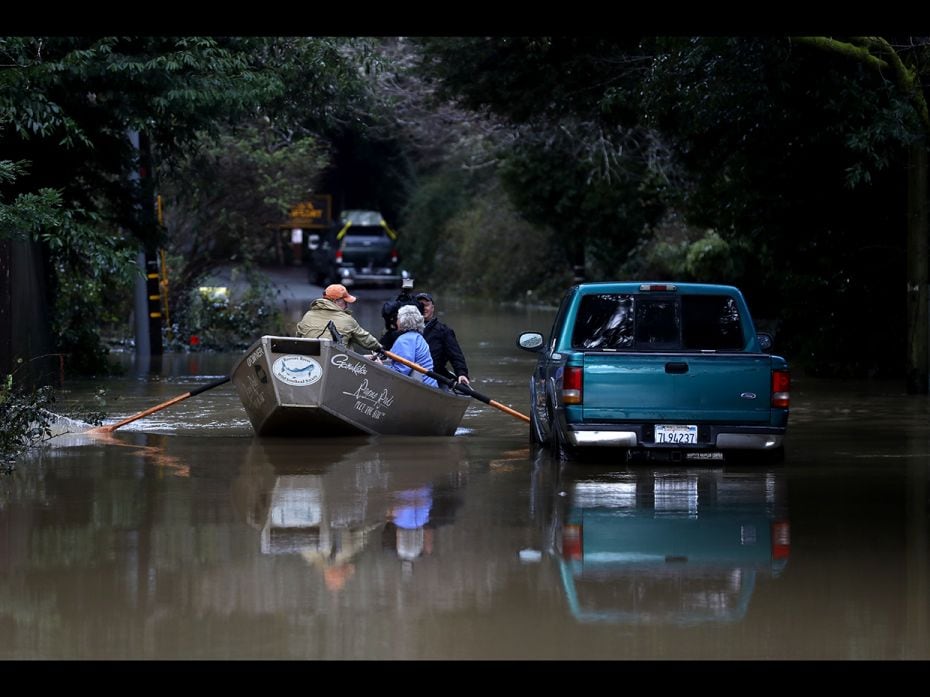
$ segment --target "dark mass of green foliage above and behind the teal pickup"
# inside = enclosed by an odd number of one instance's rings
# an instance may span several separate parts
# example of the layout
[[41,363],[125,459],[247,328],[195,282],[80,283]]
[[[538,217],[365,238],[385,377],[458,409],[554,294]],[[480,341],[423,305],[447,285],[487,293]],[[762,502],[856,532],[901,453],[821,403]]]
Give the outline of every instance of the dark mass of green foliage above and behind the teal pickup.
[[893,43],[851,40],[882,70],[778,37],[419,45],[441,96],[513,126],[501,176],[517,210],[558,230],[557,263],[734,283],[798,368],[840,376],[904,355],[904,150],[926,138],[930,49]]

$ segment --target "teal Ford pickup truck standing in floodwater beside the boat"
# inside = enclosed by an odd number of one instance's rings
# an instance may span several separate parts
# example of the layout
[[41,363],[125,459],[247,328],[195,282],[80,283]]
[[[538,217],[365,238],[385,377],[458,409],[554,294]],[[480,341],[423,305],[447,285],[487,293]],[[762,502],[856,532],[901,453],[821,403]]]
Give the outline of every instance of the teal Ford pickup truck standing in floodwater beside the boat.
[[626,458],[784,456],[790,373],[756,332],[742,293],[702,283],[570,288],[530,379],[530,443],[562,459],[595,448]]

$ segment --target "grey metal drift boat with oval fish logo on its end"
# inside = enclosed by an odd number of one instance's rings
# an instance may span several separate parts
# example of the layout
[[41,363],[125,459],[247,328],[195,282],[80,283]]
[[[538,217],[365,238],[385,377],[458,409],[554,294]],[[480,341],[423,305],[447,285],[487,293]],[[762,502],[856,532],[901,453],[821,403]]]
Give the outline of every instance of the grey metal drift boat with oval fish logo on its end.
[[331,339],[263,336],[231,377],[259,436],[451,436],[470,401]]

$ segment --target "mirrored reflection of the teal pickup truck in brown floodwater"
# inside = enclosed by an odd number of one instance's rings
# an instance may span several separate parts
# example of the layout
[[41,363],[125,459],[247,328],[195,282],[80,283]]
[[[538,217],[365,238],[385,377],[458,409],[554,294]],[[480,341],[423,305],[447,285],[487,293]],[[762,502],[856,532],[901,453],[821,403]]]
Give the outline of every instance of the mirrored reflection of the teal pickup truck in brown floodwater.
[[737,621],[788,562],[777,472],[579,469],[560,490],[553,549],[580,621]]

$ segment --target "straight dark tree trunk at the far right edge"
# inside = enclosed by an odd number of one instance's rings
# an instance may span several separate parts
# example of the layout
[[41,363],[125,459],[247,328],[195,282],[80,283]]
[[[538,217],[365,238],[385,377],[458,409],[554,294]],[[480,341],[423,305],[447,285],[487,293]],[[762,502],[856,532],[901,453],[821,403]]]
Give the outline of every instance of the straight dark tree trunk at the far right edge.
[[908,148],[907,172],[907,366],[908,394],[928,392],[927,143]]

